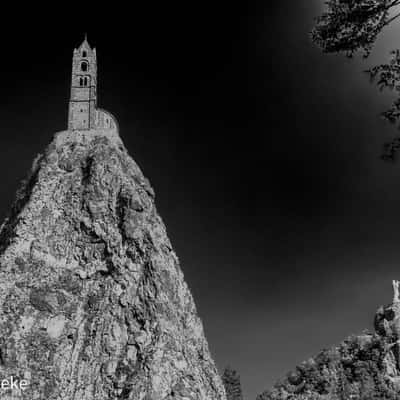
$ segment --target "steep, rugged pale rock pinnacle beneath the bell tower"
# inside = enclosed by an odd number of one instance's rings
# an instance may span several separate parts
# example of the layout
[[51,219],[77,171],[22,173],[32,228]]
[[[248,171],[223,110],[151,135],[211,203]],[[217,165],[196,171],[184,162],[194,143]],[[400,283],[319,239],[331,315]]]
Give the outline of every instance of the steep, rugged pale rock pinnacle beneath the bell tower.
[[0,378],[28,381],[17,398],[225,399],[153,189],[119,140],[60,134],[0,246]]

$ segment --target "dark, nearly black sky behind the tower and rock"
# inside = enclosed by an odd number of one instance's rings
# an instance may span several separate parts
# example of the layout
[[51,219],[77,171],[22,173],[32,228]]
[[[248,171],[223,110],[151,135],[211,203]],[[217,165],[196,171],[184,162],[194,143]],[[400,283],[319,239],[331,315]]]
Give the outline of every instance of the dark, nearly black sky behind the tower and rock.
[[[212,2],[5,18],[0,215],[65,129],[72,49],[96,46],[99,105],[152,182],[218,367],[248,399],[323,347],[370,328],[400,278],[396,131],[367,61],[308,39],[322,1]],[[100,3],[98,3],[100,4]]]

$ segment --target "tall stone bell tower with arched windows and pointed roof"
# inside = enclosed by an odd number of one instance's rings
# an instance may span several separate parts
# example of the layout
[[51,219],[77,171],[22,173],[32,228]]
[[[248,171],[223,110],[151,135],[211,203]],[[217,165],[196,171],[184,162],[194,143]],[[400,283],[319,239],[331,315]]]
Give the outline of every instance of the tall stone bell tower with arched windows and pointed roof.
[[97,60],[86,35],[72,57],[71,97],[68,111],[69,130],[94,129],[97,106]]

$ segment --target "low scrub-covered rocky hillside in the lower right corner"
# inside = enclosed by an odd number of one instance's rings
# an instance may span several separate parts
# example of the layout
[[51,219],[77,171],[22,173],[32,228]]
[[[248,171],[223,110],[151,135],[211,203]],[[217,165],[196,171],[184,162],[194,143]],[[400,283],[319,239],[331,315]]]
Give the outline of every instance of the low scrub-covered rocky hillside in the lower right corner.
[[400,302],[380,307],[374,325],[375,333],[323,350],[257,400],[400,399]]

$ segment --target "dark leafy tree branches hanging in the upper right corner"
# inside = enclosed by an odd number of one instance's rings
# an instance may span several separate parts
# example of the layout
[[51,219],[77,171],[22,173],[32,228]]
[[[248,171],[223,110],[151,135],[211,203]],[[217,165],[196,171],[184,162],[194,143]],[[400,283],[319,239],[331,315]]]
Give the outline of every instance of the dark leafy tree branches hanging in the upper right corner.
[[[400,0],[328,0],[326,11],[317,18],[311,38],[325,53],[345,53],[352,57],[361,51],[367,58],[382,30],[400,17]],[[381,90],[397,93],[391,107],[382,113],[399,127],[400,121],[400,51],[391,53],[387,64],[366,71]],[[400,137],[385,145],[384,159],[393,159],[400,149]]]

